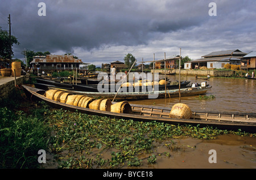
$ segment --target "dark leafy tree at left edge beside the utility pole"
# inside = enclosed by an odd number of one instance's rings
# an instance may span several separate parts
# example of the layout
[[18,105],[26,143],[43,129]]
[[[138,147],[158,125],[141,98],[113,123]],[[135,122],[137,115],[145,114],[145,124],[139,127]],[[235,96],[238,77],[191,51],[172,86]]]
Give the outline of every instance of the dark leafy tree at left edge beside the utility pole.
[[[13,44],[19,45],[19,42],[15,36],[11,36],[11,47]],[[10,49],[10,37],[9,33],[6,31],[2,31],[0,28],[0,57],[3,59],[10,58],[10,50],[11,55],[13,55],[13,49]]]

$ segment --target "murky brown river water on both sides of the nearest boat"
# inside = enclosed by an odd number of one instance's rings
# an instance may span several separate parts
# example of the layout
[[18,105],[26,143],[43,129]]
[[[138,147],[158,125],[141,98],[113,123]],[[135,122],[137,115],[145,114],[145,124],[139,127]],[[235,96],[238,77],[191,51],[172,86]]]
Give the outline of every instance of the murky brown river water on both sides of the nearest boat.
[[[177,80],[178,76],[167,76],[171,80]],[[181,80],[192,83],[205,82],[203,79],[195,79],[193,76],[181,76]],[[212,89],[207,96],[214,95],[213,100],[197,100],[197,96],[181,97],[181,102],[187,104],[191,110],[205,109],[227,112],[255,112],[256,108],[256,81],[250,79],[210,78],[208,84]],[[168,96],[167,96],[168,97]],[[133,104],[172,106],[179,102],[179,98],[162,98],[154,100],[130,101]],[[175,142],[179,147],[177,151],[170,151],[165,144]],[[220,135],[216,139],[201,140],[193,138],[170,139],[162,143],[156,143],[154,155],[156,163],[148,164],[148,154],[142,154],[142,165],[138,169],[168,169],[168,168],[256,168],[256,138],[238,135]],[[216,151],[216,163],[210,163],[210,149]],[[96,150],[97,151],[97,150]],[[166,156],[165,153],[170,153]],[[102,156],[111,158],[109,152]],[[48,168],[56,168],[56,163],[48,161]],[[47,166],[47,165],[46,165]],[[47,168],[47,167],[46,167]],[[124,166],[123,168],[130,168]],[[136,167],[133,167],[136,168]]]

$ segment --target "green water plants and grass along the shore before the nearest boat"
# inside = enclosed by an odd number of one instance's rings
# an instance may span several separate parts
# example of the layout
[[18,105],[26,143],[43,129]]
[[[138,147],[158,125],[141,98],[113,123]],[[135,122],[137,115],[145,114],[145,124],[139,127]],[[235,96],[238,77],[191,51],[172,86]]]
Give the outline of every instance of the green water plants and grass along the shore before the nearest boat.
[[[177,138],[256,136],[211,127],[127,121],[52,109],[43,102],[24,100],[19,91],[13,97],[0,108],[0,168],[40,168],[39,149],[53,154],[59,168],[140,167],[158,163],[160,156],[183,151],[175,142]],[[166,150],[159,154],[159,147]]]

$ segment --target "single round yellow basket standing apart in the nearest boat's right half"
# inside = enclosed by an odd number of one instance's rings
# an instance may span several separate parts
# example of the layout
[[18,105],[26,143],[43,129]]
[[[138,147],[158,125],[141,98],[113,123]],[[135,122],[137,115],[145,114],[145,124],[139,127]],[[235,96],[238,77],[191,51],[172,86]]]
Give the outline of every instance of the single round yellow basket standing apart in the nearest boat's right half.
[[172,106],[170,118],[189,119],[191,118],[191,116],[192,112],[188,105],[183,103],[177,103]]

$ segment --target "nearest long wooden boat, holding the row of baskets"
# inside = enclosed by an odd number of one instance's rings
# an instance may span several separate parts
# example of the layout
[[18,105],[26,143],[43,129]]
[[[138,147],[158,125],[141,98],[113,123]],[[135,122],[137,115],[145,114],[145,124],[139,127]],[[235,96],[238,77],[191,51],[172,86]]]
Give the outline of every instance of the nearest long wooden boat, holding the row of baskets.
[[134,121],[158,121],[171,123],[172,125],[193,125],[200,127],[212,126],[226,130],[242,130],[256,132],[256,113],[225,113],[225,112],[192,112],[190,119],[170,118],[171,108],[130,104],[132,113],[114,113],[79,106],[64,104],[51,100],[44,96],[46,91],[38,88],[22,85],[26,96],[31,100],[45,101],[48,105],[57,109],[70,110],[92,115],[100,115],[117,119],[133,119]]

